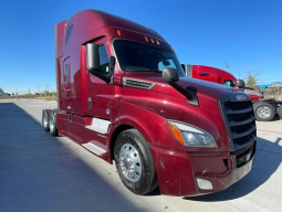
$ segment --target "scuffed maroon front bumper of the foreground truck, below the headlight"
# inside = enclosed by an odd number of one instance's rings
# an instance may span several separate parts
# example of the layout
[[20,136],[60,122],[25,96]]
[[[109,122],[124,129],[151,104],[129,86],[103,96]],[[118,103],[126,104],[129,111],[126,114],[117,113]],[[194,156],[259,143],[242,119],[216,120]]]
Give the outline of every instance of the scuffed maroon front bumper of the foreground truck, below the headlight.
[[[152,146],[152,155],[161,194],[200,195],[222,191],[242,179],[252,168],[255,145],[239,157],[229,152],[182,152],[157,146]],[[237,165],[239,162],[240,166]],[[197,178],[209,181],[212,189],[200,189]]]

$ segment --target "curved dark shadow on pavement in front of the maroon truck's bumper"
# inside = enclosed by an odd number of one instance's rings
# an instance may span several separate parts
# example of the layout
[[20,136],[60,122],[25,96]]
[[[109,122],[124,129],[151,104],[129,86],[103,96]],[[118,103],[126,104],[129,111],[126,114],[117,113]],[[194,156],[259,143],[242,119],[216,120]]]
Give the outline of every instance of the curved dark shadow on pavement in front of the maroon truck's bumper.
[[224,191],[199,197],[186,197],[184,199],[205,202],[233,200],[251,193],[265,183],[281,165],[282,147],[279,142],[282,141],[281,137],[278,137],[275,142],[259,137],[257,141],[258,148],[254,165],[252,170],[243,179]]

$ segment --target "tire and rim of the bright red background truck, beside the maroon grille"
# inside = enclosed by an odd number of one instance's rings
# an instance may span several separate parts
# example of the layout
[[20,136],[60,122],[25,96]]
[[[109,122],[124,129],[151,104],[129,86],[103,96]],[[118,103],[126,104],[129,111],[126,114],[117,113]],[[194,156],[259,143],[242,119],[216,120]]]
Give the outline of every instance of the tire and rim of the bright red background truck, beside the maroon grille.
[[255,120],[269,121],[275,116],[275,108],[265,102],[258,102],[253,104],[253,113]]

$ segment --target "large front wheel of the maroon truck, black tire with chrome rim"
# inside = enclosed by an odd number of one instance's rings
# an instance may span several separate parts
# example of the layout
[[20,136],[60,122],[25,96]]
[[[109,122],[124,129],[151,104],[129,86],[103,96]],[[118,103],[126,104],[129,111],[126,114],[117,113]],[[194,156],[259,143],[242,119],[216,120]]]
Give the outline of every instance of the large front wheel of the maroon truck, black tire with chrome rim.
[[136,194],[146,194],[158,187],[149,146],[136,129],[121,132],[114,148],[114,159],[124,186]]

